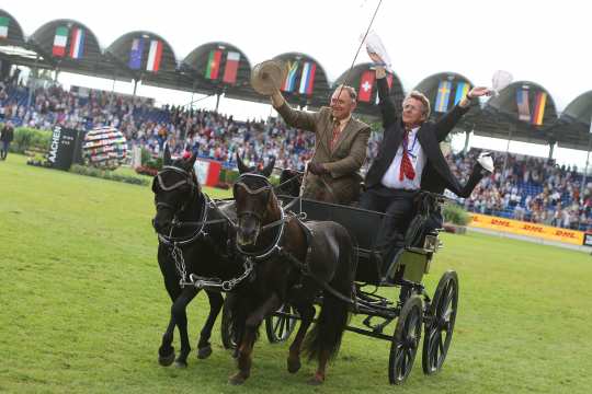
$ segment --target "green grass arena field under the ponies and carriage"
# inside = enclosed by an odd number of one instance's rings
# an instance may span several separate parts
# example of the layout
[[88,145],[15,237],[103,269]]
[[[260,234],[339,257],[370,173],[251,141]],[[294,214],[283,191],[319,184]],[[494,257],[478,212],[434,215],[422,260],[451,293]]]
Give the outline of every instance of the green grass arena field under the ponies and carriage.
[[[157,362],[169,301],[156,260],[149,187],[0,162],[0,392],[9,393],[589,393],[592,257],[480,234],[443,234],[425,283],[445,269],[460,301],[444,369],[421,356],[403,386],[388,384],[389,343],[346,333],[326,384],[292,375],[287,345],[255,346],[240,387],[219,331],[207,360]],[[392,297],[396,294],[394,293]],[[205,297],[190,306],[195,346]],[[395,329],[395,324],[387,328]],[[178,339],[178,338],[175,338]]]

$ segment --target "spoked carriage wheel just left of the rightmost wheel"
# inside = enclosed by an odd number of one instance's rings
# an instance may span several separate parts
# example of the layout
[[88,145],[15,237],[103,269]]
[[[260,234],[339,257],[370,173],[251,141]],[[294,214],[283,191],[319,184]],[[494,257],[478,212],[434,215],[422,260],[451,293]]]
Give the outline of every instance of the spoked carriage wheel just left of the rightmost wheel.
[[402,384],[409,376],[421,339],[423,308],[421,297],[412,296],[405,301],[390,344],[388,380],[390,384]]

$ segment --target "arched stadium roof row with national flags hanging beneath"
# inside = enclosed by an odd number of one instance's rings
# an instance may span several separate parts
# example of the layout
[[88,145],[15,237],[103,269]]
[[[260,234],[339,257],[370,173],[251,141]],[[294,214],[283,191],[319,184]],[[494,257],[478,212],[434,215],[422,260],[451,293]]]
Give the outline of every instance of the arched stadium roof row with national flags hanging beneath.
[[[8,27],[7,37],[0,36],[0,59],[8,63],[125,81],[136,80],[144,84],[174,90],[225,94],[231,99],[261,103],[269,102],[267,97],[255,93],[250,85],[252,65],[247,55],[228,43],[201,45],[181,60],[164,38],[147,31],[124,34],[103,49],[94,33],[78,21],[67,19],[50,21],[37,28],[30,37],[7,11],[0,10],[0,21],[2,22],[0,26],[3,27],[5,24]],[[56,38],[58,35],[60,37]],[[80,36],[83,38],[79,38]],[[59,49],[54,51],[55,42],[58,46],[61,43],[62,54]],[[217,50],[219,55],[215,54]],[[206,76],[212,60],[209,56],[213,53],[213,66],[218,68],[218,74]],[[235,63],[228,68],[229,74],[226,74],[230,53],[234,53],[232,59],[237,58],[236,54],[239,58],[236,76],[234,74]],[[294,66],[291,84],[285,86],[284,94],[288,102],[301,106],[327,105],[333,86],[344,81],[348,73],[343,72],[334,83],[331,83],[322,66],[310,55],[286,53],[274,59]],[[297,66],[295,66],[296,62]],[[362,76],[365,71],[372,70],[371,66],[371,63],[361,63],[353,68],[349,78],[350,84],[356,90],[360,91]],[[444,105],[440,103],[441,101],[436,103],[441,81],[449,82],[448,108],[454,103],[459,82],[473,85],[467,78],[455,72],[442,72],[428,77],[415,86],[415,90],[426,94],[434,107],[437,106],[436,104]],[[357,112],[378,116],[378,109],[373,105],[376,95],[374,86],[369,102],[361,102]],[[403,97],[403,86],[398,76],[394,76],[392,86],[392,97],[396,103],[400,103]],[[528,121],[520,120],[517,111],[517,92],[525,88],[527,88],[527,111],[531,118]],[[545,105],[540,105],[543,102]],[[537,105],[538,109],[536,109]],[[525,106],[523,106],[524,109]],[[538,121],[533,124],[535,113]],[[432,114],[436,119],[442,115],[437,111],[433,111]],[[506,86],[498,96],[491,97],[482,108],[474,106],[463,118],[459,128],[474,130],[479,136],[511,138],[545,144],[557,141],[560,147],[587,150],[591,115],[592,92],[577,97],[558,118],[555,101],[543,86],[534,82],[520,81]],[[535,125],[538,123],[539,125]]]

